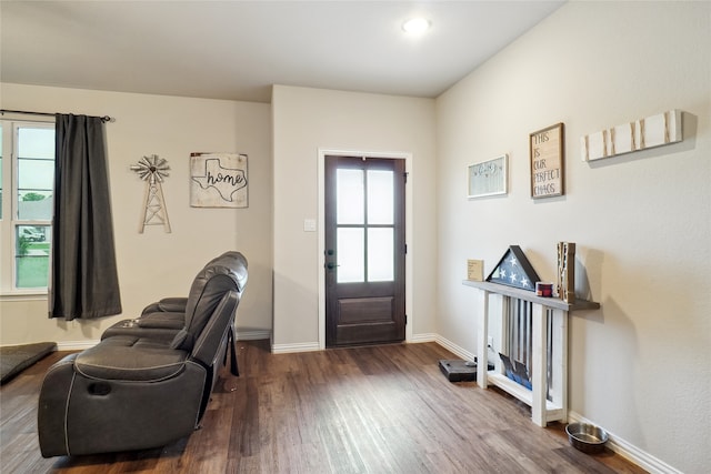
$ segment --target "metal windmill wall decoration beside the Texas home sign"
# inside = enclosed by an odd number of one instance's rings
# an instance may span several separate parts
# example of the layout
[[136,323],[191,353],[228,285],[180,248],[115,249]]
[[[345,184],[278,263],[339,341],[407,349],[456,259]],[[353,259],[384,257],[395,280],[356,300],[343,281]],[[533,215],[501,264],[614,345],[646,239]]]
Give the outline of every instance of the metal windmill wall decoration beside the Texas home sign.
[[143,208],[143,219],[139,229],[143,233],[146,225],[162,225],[166,232],[170,233],[170,221],[168,220],[168,209],[163,199],[163,186],[161,183],[168,177],[168,161],[158,158],[157,154],[141,158],[138,163],[131,165],[138,177],[146,181],[146,205]]

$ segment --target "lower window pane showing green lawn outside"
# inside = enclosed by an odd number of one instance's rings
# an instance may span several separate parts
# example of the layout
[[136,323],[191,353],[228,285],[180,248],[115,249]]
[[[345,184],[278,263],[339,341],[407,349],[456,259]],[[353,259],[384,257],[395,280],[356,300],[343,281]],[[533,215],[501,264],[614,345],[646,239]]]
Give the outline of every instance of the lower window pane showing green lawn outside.
[[47,288],[50,240],[49,225],[16,226],[17,288]]

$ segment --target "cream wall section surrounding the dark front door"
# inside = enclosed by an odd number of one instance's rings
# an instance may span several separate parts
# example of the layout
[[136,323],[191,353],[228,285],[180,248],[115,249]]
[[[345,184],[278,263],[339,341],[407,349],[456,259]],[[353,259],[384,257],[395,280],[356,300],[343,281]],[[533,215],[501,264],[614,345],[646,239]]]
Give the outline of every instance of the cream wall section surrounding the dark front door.
[[[279,349],[316,347],[319,341],[317,219],[319,149],[412,154],[408,186],[413,228],[408,259],[413,281],[410,322],[414,334],[434,332],[434,101],[404,97],[276,85],[273,115],[274,323]],[[414,212],[413,212],[414,210]],[[319,230],[320,231],[320,230]]]

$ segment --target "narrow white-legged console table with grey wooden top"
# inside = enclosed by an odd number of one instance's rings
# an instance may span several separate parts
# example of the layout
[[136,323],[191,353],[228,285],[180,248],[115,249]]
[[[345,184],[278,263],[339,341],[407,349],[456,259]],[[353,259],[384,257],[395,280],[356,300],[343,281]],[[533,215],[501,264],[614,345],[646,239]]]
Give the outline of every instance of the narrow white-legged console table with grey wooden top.
[[[568,313],[571,311],[597,310],[600,303],[587,300],[575,300],[567,303],[558,297],[538,296],[532,291],[520,290],[498,283],[464,280],[467,286],[483,291],[479,307],[478,347],[477,347],[477,383],[482,389],[489,384],[515,396],[531,406],[531,420],[539,426],[549,422],[568,418]],[[488,371],[488,336],[489,336],[489,296],[501,295],[507,299],[518,299],[532,303],[532,354],[531,354],[531,390],[515,383],[502,373],[501,364],[494,361],[497,369]],[[504,307],[507,305],[502,305]],[[550,310],[550,312],[549,312]],[[547,370],[549,366],[549,321],[552,317],[552,356],[551,370],[554,384],[548,384]],[[503,321],[503,317],[501,317]],[[550,395],[550,400],[548,400]]]

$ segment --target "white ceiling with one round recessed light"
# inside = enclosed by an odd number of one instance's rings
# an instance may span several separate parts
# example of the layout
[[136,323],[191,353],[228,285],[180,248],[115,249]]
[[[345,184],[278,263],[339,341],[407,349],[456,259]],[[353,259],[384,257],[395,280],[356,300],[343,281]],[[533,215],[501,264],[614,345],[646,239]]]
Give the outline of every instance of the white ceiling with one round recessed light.
[[[434,98],[563,1],[0,2],[2,82],[271,100],[271,85]],[[431,28],[402,29],[425,16]]]

